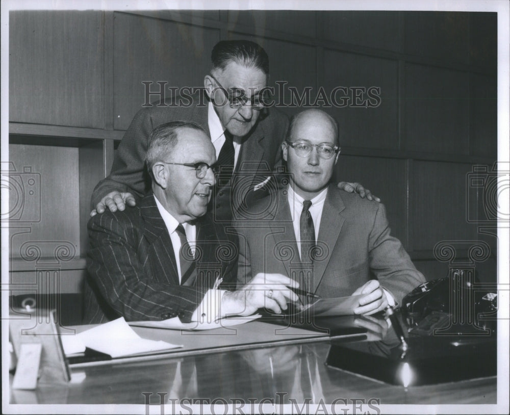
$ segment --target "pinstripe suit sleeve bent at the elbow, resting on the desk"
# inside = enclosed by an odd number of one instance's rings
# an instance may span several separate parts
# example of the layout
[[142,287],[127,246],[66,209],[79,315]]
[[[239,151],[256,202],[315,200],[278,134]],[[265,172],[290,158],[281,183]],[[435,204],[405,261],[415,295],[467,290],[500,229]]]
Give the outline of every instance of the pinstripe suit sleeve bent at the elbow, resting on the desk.
[[[96,215],[88,224],[90,249],[87,268],[98,295],[127,321],[161,320],[179,316],[189,322],[206,289],[156,281],[146,275],[146,253],[131,222],[120,223],[110,213]],[[171,249],[171,247],[170,247]],[[145,258],[145,259],[144,259]]]

